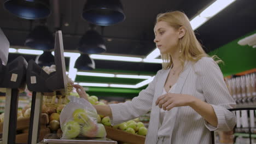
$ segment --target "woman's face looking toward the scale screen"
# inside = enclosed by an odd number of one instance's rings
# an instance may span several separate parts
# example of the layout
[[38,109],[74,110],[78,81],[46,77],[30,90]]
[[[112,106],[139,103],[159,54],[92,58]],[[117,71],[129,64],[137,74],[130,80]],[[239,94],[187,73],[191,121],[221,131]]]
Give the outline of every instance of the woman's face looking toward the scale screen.
[[179,32],[165,21],[159,21],[154,27],[156,47],[160,53],[175,52],[178,49]]

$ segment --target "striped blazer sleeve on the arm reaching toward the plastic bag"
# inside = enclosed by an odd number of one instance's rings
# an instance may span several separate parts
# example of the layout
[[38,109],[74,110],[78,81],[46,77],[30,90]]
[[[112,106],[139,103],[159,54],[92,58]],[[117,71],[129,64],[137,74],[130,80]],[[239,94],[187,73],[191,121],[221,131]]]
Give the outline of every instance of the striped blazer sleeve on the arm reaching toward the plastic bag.
[[153,81],[149,83],[148,87],[139,92],[139,95],[131,101],[110,104],[109,106],[112,111],[112,117],[110,117],[111,124],[116,125],[123,123],[150,111],[152,108],[157,79],[158,74],[156,74]]

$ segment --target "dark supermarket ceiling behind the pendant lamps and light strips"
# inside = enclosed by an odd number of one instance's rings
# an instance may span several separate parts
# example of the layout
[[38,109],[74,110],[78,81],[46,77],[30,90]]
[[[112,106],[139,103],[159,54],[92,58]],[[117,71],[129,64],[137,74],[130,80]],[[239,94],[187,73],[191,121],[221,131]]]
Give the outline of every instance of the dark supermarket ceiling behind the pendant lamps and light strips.
[[[82,17],[85,2],[85,0],[61,0],[58,3],[57,0],[52,0],[50,1],[52,13],[47,19],[43,20],[52,33],[56,29],[62,30],[64,49],[67,52],[79,52],[77,50],[79,40],[89,29],[89,23]],[[153,42],[153,27],[157,14],[171,10],[181,10],[191,20],[213,2],[214,0],[197,0],[196,2],[189,0],[122,0],[121,3],[124,7],[126,19],[116,25],[104,27],[103,38],[107,51],[103,54],[146,58],[156,48]],[[31,21],[16,17],[4,9],[3,3],[3,1],[0,1],[0,27],[10,41],[11,47],[28,49],[28,47],[24,46],[26,37],[30,33],[30,29],[38,26],[42,20]],[[203,23],[202,26],[195,29],[196,37],[202,43],[205,51],[210,52],[218,49],[218,47],[228,44],[232,40],[255,31],[255,5],[255,0],[236,0]],[[59,8],[59,11],[56,11],[57,8]],[[102,32],[102,27],[97,26],[96,28],[99,33]],[[18,55],[24,56],[27,61],[36,58],[35,55],[9,53],[9,61],[13,61]],[[67,57],[67,70],[69,69],[69,60],[70,58]],[[104,71],[105,73],[154,75],[156,71],[161,69],[161,64],[159,63],[106,61],[100,59],[95,59],[94,61],[96,69],[93,71]],[[77,75],[75,81],[135,85],[143,81],[143,79]],[[112,90],[114,93],[117,89]],[[96,88],[96,91],[99,92],[100,90]],[[104,95],[103,93],[106,91],[104,89],[101,95]],[[128,91],[118,90],[119,95],[123,92],[129,93]],[[109,95],[113,95],[113,93]],[[132,91],[130,93],[135,93],[136,95],[138,92]]]

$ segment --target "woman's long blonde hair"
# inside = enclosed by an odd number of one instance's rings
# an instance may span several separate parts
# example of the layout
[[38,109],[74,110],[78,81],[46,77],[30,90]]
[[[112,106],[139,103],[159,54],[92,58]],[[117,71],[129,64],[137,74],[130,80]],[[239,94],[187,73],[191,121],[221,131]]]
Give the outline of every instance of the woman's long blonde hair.
[[[182,13],[181,11],[172,11],[167,13],[159,14],[156,17],[156,22],[165,21],[178,30],[180,27],[185,28],[185,34],[183,38],[179,39],[179,49],[181,52],[179,53],[179,59],[182,62],[182,67],[184,67],[185,61],[196,62],[202,57],[210,57],[207,53],[202,49],[201,44],[196,39],[195,33],[190,25],[188,17]],[[172,59],[170,53],[165,53],[161,55],[162,57],[162,68],[168,69],[172,65]],[[222,62],[217,56],[212,56],[213,59],[217,63]],[[217,60],[216,60],[217,59]]]

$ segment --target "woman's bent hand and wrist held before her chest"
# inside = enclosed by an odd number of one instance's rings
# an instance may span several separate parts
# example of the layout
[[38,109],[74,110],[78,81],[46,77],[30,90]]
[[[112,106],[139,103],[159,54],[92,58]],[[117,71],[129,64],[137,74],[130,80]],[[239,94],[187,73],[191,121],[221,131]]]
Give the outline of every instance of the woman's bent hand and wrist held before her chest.
[[179,106],[189,106],[195,97],[188,94],[177,94],[177,93],[167,93],[161,95],[155,104],[160,107],[160,109],[170,111],[173,107]]

